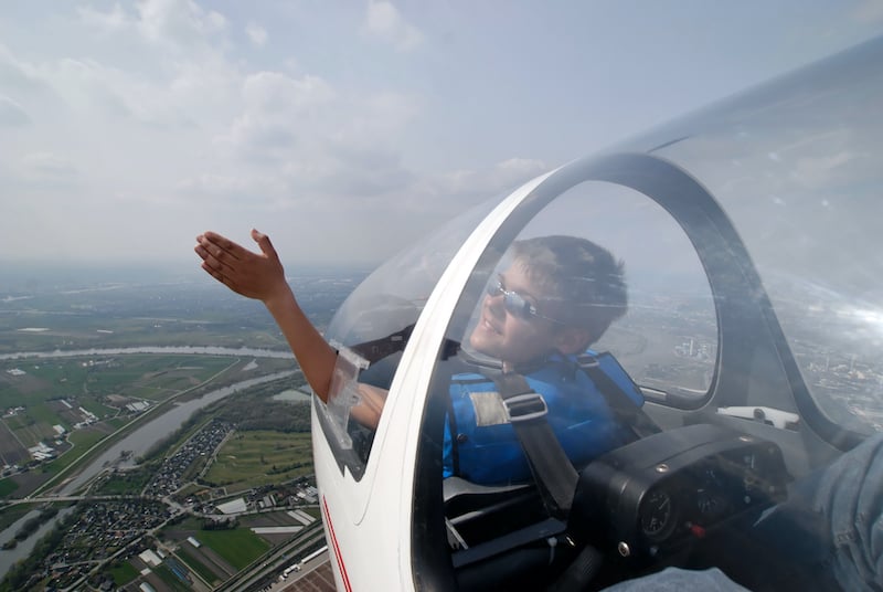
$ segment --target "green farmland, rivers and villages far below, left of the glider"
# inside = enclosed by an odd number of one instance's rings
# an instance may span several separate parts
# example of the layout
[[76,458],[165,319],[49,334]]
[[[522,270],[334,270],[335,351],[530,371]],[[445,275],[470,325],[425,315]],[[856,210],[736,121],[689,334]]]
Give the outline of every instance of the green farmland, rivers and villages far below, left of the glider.
[[[198,273],[4,277],[0,590],[259,589],[325,546],[306,382]],[[322,326],[363,275],[290,281]]]

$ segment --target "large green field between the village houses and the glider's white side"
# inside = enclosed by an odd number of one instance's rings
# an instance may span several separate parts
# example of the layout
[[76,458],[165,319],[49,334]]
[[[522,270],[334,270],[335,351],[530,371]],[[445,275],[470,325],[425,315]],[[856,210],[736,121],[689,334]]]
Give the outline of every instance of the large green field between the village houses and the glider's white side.
[[237,432],[219,451],[204,480],[228,489],[283,483],[312,473],[309,433]]

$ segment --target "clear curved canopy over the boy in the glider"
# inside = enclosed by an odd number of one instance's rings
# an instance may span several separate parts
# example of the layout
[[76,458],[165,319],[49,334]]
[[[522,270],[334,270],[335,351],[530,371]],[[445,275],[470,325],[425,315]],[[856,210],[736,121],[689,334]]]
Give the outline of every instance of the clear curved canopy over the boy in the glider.
[[[758,518],[883,423],[881,63],[876,40],[571,162],[360,286],[329,329],[344,352],[336,389],[349,397],[322,406],[322,429],[361,479],[374,430],[350,420],[358,385],[404,397],[401,357],[436,359],[426,392],[406,393],[423,401],[416,570],[448,570],[440,581],[467,589],[525,577],[546,585],[589,547],[614,558],[602,581],[666,565],[774,581],[748,573],[757,558],[736,561],[734,549],[768,542]],[[558,253],[550,236],[577,246]],[[582,271],[565,261],[586,241],[623,263],[627,311],[607,315],[609,328],[597,323],[615,306],[602,254]],[[468,273],[451,271],[466,261]],[[433,300],[443,289],[458,297]],[[415,353],[418,321],[446,330]],[[500,373],[539,392],[529,414],[544,415],[558,442],[513,427],[523,411]],[[636,385],[639,411],[623,399],[634,403]],[[532,456],[531,438],[561,445],[576,477],[538,468],[557,461]],[[475,468],[482,463],[499,471]],[[806,532],[783,536],[796,543]],[[574,549],[550,556],[553,539]],[[797,565],[779,558],[783,571]]]

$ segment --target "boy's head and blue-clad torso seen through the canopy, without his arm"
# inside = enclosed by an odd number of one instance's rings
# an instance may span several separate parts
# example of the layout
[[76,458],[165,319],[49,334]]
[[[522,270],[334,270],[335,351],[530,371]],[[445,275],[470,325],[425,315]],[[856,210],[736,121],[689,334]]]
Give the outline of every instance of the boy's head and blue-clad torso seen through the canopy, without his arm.
[[[500,360],[503,373],[521,374],[542,395],[556,440],[574,465],[584,465],[629,440],[576,359],[626,313],[623,264],[575,236],[517,241],[508,258],[488,285],[468,345]],[[530,478],[498,390],[481,374],[454,377],[453,412],[445,429],[446,477],[481,484]]]

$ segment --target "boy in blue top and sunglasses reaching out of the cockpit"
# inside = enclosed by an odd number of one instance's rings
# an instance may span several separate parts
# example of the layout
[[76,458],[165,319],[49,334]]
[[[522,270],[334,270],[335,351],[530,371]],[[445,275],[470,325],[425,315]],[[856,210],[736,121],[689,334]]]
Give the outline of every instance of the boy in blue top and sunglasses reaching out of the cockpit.
[[[213,232],[196,239],[202,268],[232,290],[262,300],[285,335],[307,381],[328,402],[336,350],[297,304],[269,239],[252,231],[260,253]],[[468,338],[477,352],[522,374],[549,406],[549,423],[577,466],[625,442],[614,417],[576,356],[595,342],[627,308],[623,265],[600,246],[573,236],[519,241],[511,263],[492,278]],[[530,478],[499,394],[480,377],[455,377],[446,426],[445,476],[477,483]],[[351,417],[376,427],[386,391],[359,384]],[[493,395],[497,395],[494,400]]]

